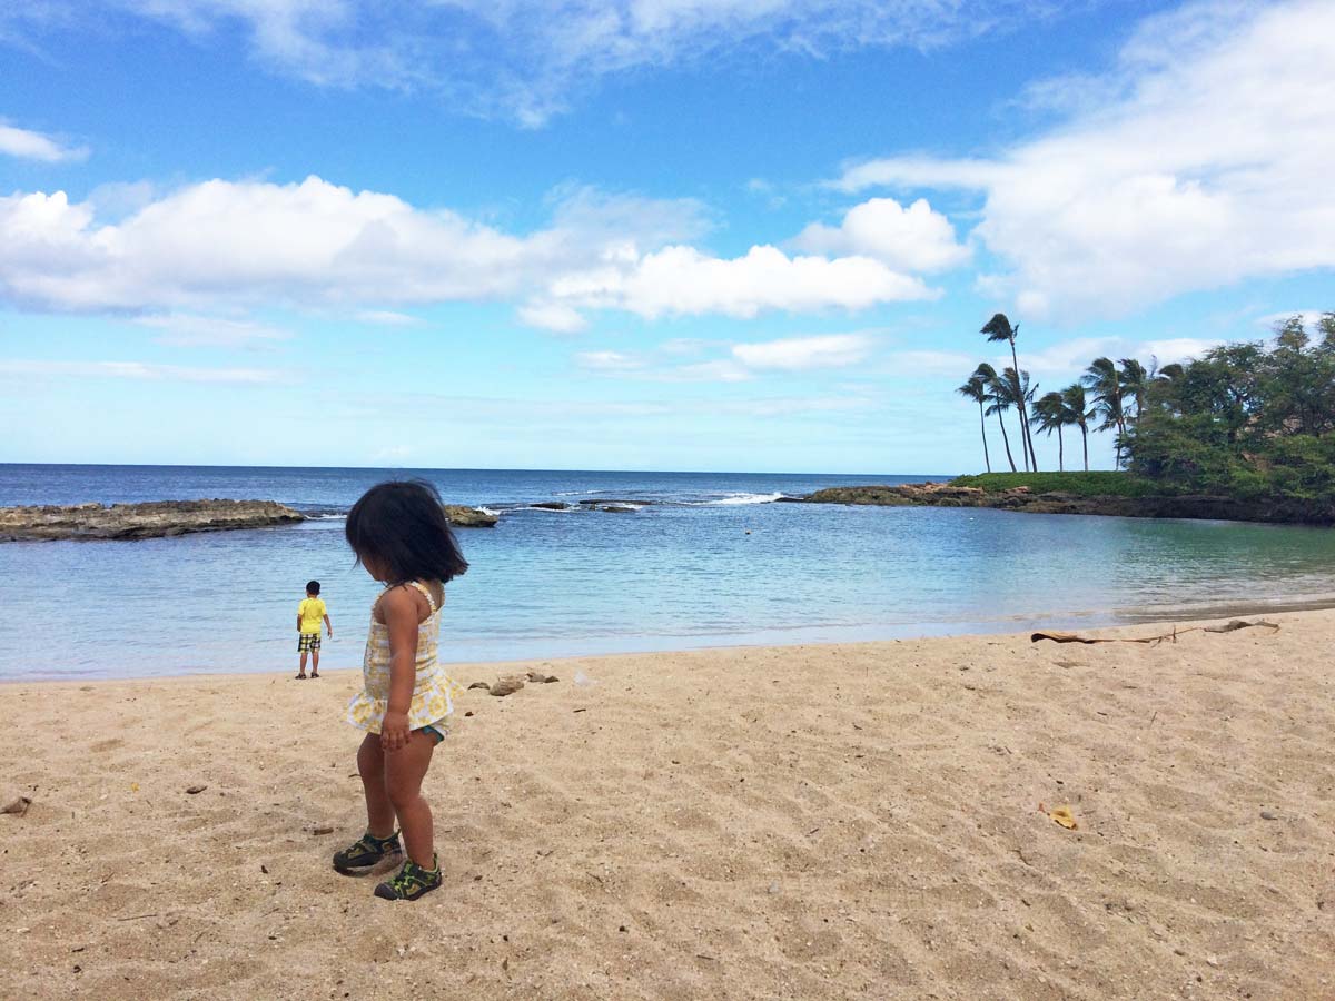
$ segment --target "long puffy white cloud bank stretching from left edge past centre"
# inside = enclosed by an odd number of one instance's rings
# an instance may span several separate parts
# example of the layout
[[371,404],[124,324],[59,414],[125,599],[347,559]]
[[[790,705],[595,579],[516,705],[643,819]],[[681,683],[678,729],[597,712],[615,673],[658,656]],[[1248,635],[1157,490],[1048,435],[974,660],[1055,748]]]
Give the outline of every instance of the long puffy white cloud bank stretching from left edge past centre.
[[[557,203],[549,228],[511,235],[314,176],[300,184],[192,184],[115,223],[64,192],[16,194],[0,198],[0,300],[47,310],[235,314],[260,306],[519,299],[523,322],[571,332],[582,328],[578,311],[587,308],[649,319],[752,318],[936,295],[921,279],[870,258],[790,258],[753,247],[722,259],[681,243],[642,252],[642,242],[698,231],[698,206],[583,190],[573,199]],[[639,222],[643,230],[634,228]]]

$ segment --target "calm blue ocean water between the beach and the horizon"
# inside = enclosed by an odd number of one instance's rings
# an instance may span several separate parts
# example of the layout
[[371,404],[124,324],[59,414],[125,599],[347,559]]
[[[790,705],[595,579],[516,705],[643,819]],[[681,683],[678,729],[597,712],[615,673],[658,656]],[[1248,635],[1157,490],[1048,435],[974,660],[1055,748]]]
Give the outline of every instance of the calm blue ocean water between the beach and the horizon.
[[[343,514],[383,479],[501,514],[458,530],[453,661],[1079,627],[1335,597],[1335,533],[925,507],[776,503],[932,476],[0,464],[0,506],[272,499],[295,527],[140,542],[0,543],[0,679],[279,671],[304,583],[360,663],[378,585]],[[936,476],[943,479],[944,476]],[[625,511],[535,502],[623,500]]]

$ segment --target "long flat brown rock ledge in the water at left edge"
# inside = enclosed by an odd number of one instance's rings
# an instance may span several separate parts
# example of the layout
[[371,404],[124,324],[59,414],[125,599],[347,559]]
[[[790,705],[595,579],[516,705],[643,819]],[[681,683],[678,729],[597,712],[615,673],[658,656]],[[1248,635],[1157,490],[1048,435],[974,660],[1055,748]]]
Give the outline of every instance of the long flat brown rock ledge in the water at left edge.
[[260,529],[304,521],[274,500],[155,500],[69,507],[0,507],[0,541],[148,539],[194,531]]

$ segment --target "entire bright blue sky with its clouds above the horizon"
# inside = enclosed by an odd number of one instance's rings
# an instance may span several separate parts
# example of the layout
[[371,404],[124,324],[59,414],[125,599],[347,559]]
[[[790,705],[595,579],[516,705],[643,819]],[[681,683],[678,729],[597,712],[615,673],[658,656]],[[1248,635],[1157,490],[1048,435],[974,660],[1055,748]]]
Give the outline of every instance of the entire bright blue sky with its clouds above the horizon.
[[1312,1],[7,7],[0,460],[975,471],[996,311],[1041,392],[1335,308],[1331,37]]

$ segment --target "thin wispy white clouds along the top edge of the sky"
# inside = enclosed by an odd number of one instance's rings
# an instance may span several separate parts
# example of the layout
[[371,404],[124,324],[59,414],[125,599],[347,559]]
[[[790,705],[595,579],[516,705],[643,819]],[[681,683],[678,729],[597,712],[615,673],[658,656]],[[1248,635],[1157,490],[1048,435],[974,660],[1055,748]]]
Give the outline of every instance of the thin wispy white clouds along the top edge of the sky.
[[[239,27],[254,59],[326,87],[429,89],[538,125],[605,76],[733,53],[820,59],[933,48],[1032,21],[1051,0],[41,0],[0,39],[167,24],[199,44]],[[36,8],[36,9],[27,9]],[[89,8],[92,8],[89,11]],[[89,16],[89,13],[92,16]]]

